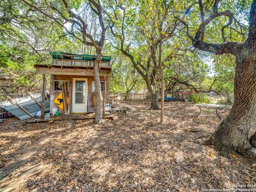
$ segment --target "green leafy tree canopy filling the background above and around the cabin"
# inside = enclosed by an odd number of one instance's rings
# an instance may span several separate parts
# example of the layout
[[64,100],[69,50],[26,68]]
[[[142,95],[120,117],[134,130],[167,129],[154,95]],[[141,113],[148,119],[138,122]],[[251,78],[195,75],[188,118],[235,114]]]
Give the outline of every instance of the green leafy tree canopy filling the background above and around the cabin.
[[[47,1],[46,1],[47,2]],[[44,12],[54,15],[59,22],[64,22],[63,18],[52,9],[47,9],[47,4],[44,1],[35,1],[38,7],[44,7]],[[193,4],[191,13],[186,15],[184,20],[193,26],[190,28],[190,35],[194,36],[196,28],[199,26],[201,20],[198,2],[197,1],[100,1],[104,13],[104,20],[106,26],[111,26],[114,22],[114,30],[118,35],[122,34],[122,26],[124,25],[124,39],[123,45],[125,49],[134,58],[135,62],[139,62],[138,68],[145,72],[147,68],[150,74],[156,70],[156,75],[150,80],[159,80],[159,69],[153,65],[153,58],[151,57],[150,46],[154,44],[159,35],[164,38],[167,36],[166,30],[172,28],[174,23],[177,23],[175,16],[183,17],[185,10],[188,6]],[[49,2],[51,5],[61,10],[62,14],[69,18],[69,14],[61,1],[53,0]],[[68,0],[70,9],[75,11],[87,20],[97,21],[97,16],[88,11],[86,5],[87,1]],[[165,6],[163,4],[165,3]],[[219,5],[219,12],[230,10],[237,15],[237,19],[247,27],[249,19],[249,10],[252,0],[250,1],[221,1]],[[213,1],[203,1],[205,7],[205,17],[210,14],[210,8]],[[123,7],[121,9],[120,7]],[[86,8],[86,9],[85,9]],[[207,10],[209,9],[209,10]],[[125,10],[125,11],[124,11]],[[163,13],[167,11],[166,17],[163,19]],[[41,85],[41,77],[35,75],[34,64],[40,62],[50,62],[50,56],[47,54],[49,51],[63,51],[74,53],[92,53],[95,50],[89,46],[85,46],[85,51],[82,49],[82,42],[77,38],[81,38],[81,31],[77,30],[74,25],[72,32],[76,35],[67,33],[63,27],[57,25],[53,19],[47,18],[42,13],[34,9],[30,9],[24,2],[20,0],[2,0],[0,2],[0,70],[1,75],[13,77],[11,82],[11,90],[17,89],[39,89]],[[28,13],[29,17],[21,17],[19,14]],[[106,14],[107,13],[107,14]],[[122,22],[125,13],[125,21]],[[4,15],[7,18],[14,20],[4,20]],[[23,15],[22,15],[23,16]],[[14,19],[15,18],[15,19]],[[31,19],[33,18],[33,19]],[[69,18],[70,19],[70,18]],[[111,21],[111,22],[110,22]],[[13,25],[13,23],[22,23],[22,25]],[[92,21],[89,21],[89,23]],[[163,22],[163,28],[159,30],[160,24]],[[210,43],[222,42],[221,27],[227,23],[227,17],[218,17],[206,26],[204,40]],[[18,26],[18,27],[17,27]],[[65,23],[65,27],[71,28],[71,23]],[[91,35],[97,37],[99,34],[95,22],[92,29],[87,28],[87,31],[92,31]],[[239,34],[240,27],[232,24],[230,26],[236,30],[225,29],[225,36],[227,41],[244,41],[246,34]],[[231,31],[231,32],[230,32]],[[116,47],[121,46],[121,41],[118,37],[112,37],[110,30],[107,31],[106,39],[111,41],[111,44]],[[87,38],[87,40],[89,40]],[[35,50],[43,49],[39,52],[42,58],[37,55]],[[119,51],[113,49],[109,42],[106,42],[103,52],[106,55],[111,55],[113,58],[112,68],[113,74],[111,77],[110,89],[113,91],[127,91],[127,90],[143,90],[145,89],[145,81],[138,71],[134,70],[131,60],[124,57]],[[129,45],[129,46],[128,46]],[[92,50],[92,51],[91,51]],[[171,55],[170,58],[167,58]],[[217,92],[232,93],[234,89],[235,77],[235,58],[229,55],[212,55],[210,53],[202,53],[191,46],[188,41],[186,30],[184,26],[178,25],[175,29],[175,34],[170,38],[164,40],[163,54],[162,54],[164,74],[166,84],[169,83],[171,77],[178,77],[180,81],[188,82],[202,90],[212,90]],[[166,59],[167,58],[167,59]],[[156,61],[158,61],[158,50],[156,50]],[[214,82],[214,84],[213,84]],[[3,83],[4,85],[4,83]],[[133,86],[134,85],[134,86]],[[7,85],[6,85],[7,86]],[[181,84],[175,84],[175,89],[182,88]],[[132,87],[132,88],[131,88]],[[207,102],[203,96],[191,95],[193,102]]]

